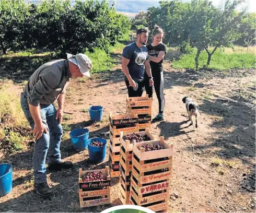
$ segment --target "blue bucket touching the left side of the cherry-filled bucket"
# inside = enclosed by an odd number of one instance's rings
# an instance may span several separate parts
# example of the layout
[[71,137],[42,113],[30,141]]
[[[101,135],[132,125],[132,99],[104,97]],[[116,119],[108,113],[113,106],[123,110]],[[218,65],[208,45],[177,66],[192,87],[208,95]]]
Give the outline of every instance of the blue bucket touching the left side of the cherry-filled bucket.
[[88,148],[89,129],[74,129],[69,136],[75,150],[81,151]]

